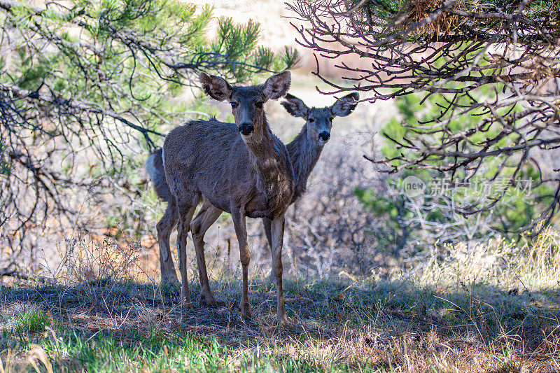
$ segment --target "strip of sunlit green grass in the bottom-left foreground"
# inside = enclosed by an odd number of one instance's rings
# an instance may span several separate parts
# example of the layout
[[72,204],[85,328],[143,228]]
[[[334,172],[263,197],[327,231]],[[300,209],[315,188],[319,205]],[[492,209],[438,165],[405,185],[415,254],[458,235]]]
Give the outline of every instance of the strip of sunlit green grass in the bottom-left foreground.
[[[157,333],[143,337],[131,331],[128,341],[113,334],[100,333],[91,337],[73,332],[40,343],[45,353],[52,357],[55,371],[80,367],[88,372],[325,372],[306,356],[282,356],[281,353],[260,352],[258,349],[246,351],[244,346],[228,347],[216,338],[169,337]],[[67,358],[62,359],[63,356]],[[347,368],[344,363],[335,367],[339,370]]]

